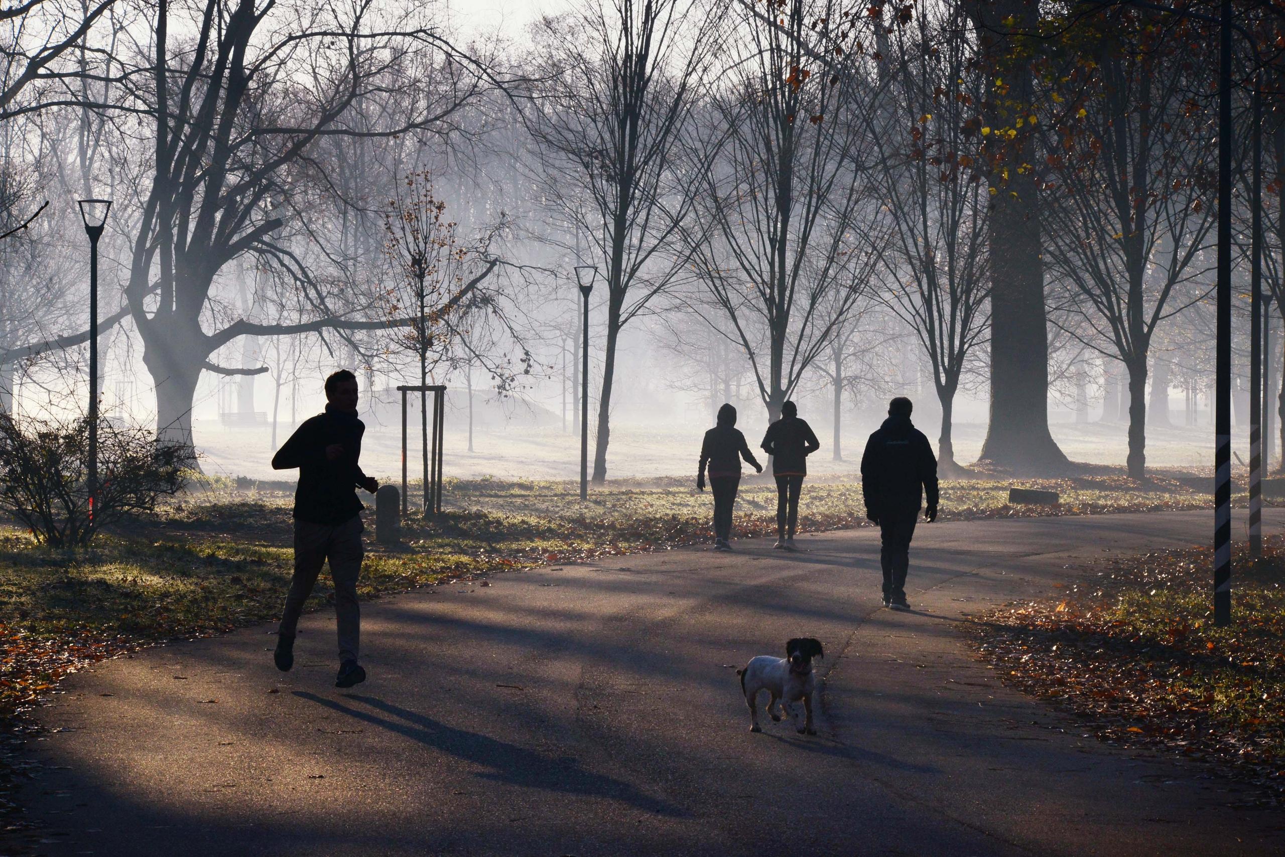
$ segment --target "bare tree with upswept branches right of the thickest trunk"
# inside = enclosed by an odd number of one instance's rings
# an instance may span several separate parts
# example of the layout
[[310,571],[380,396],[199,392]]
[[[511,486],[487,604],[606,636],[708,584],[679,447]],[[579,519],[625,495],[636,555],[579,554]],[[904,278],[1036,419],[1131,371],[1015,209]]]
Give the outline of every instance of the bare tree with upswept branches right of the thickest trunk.
[[[1068,308],[1087,322],[1072,333],[1128,373],[1127,461],[1135,479],[1146,465],[1151,339],[1160,321],[1201,297],[1192,280],[1203,274],[1200,251],[1214,209],[1201,175],[1214,140],[1190,96],[1196,82],[1185,69],[1189,49],[1164,44],[1163,24],[1133,9],[1083,21],[1095,62],[1069,69],[1081,107],[1074,121],[1050,132],[1050,177],[1061,186],[1049,194],[1046,252],[1069,285]],[[1178,302],[1171,306],[1174,289]]]

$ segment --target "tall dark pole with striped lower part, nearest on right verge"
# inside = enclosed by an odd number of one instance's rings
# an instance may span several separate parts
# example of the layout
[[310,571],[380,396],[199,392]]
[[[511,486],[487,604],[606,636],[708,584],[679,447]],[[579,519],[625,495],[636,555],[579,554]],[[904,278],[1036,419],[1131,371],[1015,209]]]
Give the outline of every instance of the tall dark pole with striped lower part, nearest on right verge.
[[1218,312],[1214,416],[1213,622],[1231,624],[1231,0],[1218,60]]

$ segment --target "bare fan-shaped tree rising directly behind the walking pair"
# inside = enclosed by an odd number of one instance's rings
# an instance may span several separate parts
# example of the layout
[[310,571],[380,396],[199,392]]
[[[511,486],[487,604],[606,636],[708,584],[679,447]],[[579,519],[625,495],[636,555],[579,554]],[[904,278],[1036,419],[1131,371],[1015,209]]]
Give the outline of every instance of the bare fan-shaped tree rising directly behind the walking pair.
[[882,229],[869,193],[871,95],[861,62],[804,66],[847,28],[833,3],[788,0],[777,21],[738,6],[730,68],[693,144],[696,225],[684,229],[716,329],[749,358],[780,415],[853,311]]

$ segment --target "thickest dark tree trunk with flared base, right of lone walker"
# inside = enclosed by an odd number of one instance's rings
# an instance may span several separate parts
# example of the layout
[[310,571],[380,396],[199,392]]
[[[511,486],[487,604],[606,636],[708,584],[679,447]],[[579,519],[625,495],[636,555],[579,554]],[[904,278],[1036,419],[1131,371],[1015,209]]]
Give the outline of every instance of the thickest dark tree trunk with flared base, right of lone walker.
[[[1034,27],[1036,10],[1024,0],[998,0],[974,4],[982,31],[989,44],[989,86],[998,78],[1019,104],[1033,100],[1031,64],[1009,60],[1011,44],[995,37],[995,27],[1011,30],[1001,21],[1014,17],[1019,28]],[[983,50],[987,50],[983,48]],[[1007,107],[987,105],[988,125],[1011,123]],[[996,145],[1005,145],[996,141]],[[1010,146],[1013,144],[1009,144]],[[980,459],[1025,473],[1058,473],[1069,461],[1049,432],[1049,330],[1043,294],[1043,258],[1040,226],[1038,189],[1034,170],[1016,170],[1034,163],[1029,134],[1016,139],[1015,149],[1004,161],[1014,168],[1000,182],[992,175],[997,193],[991,198],[991,414]]]

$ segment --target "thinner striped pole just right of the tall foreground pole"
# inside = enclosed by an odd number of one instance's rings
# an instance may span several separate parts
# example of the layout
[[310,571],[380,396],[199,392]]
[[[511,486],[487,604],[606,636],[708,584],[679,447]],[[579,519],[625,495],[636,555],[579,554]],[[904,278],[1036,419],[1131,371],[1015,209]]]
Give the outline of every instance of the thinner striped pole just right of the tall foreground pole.
[[1263,555],[1263,95],[1254,82],[1254,172],[1250,193],[1253,234],[1249,251],[1249,554]]

